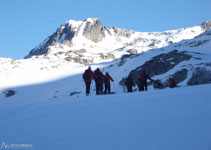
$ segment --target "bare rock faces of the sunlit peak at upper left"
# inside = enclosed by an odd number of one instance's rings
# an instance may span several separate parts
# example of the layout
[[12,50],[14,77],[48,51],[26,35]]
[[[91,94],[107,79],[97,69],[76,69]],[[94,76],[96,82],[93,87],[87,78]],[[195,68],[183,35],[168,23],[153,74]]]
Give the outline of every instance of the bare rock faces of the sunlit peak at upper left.
[[62,43],[68,46],[72,45],[72,39],[78,36],[79,31],[82,29],[82,25],[85,24],[83,31],[84,37],[95,43],[102,41],[105,37],[105,28],[103,27],[99,19],[87,19],[77,28],[71,24],[66,23],[62,25],[55,33],[49,36],[43,43],[32,49],[25,58],[30,58],[33,55],[43,55],[48,53],[48,47],[56,43]]

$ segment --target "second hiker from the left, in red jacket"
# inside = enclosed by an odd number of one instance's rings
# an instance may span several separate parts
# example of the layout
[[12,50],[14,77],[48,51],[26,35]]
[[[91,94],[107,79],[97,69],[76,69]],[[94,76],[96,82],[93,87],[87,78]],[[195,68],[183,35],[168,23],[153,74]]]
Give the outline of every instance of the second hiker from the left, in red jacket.
[[103,94],[103,82],[105,79],[105,76],[100,71],[99,68],[97,68],[94,72],[95,74],[95,85],[96,85],[96,95]]

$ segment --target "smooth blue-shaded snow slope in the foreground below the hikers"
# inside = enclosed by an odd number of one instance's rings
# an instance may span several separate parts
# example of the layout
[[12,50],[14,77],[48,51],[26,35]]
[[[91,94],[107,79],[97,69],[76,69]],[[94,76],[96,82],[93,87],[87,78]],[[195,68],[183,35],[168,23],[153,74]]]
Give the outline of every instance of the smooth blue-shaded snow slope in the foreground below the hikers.
[[210,90],[207,84],[79,98],[11,97],[0,101],[0,142],[39,150],[209,150]]

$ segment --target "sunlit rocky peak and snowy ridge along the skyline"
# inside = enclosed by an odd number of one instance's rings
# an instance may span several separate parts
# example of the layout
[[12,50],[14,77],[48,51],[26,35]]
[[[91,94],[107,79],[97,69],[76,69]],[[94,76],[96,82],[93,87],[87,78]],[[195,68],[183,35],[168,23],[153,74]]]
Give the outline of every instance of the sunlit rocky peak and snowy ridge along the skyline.
[[[67,21],[49,36],[43,43],[31,50],[26,58],[33,56],[52,55],[58,52],[69,52],[85,49],[80,58],[88,59],[90,63],[105,61],[101,54],[112,54],[120,58],[135,49],[136,53],[150,49],[161,48],[185,39],[193,39],[207,29],[208,23],[198,26],[169,30],[164,32],[136,32],[117,27],[104,27],[97,18],[88,18],[84,21]],[[92,57],[89,57],[90,54]],[[79,56],[79,55],[77,55]],[[59,59],[65,59],[66,56]],[[109,59],[111,60],[111,59]]]

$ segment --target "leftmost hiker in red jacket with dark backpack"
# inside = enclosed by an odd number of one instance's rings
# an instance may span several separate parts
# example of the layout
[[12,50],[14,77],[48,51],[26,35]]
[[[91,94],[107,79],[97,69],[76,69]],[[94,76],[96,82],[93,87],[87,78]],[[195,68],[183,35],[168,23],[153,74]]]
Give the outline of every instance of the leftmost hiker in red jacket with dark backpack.
[[88,96],[90,93],[90,85],[92,79],[95,77],[95,74],[92,72],[91,67],[89,66],[88,69],[84,71],[83,80],[86,84],[86,95]]

